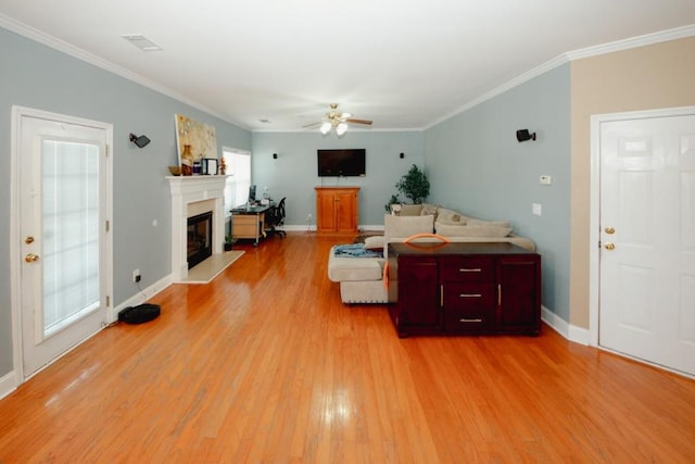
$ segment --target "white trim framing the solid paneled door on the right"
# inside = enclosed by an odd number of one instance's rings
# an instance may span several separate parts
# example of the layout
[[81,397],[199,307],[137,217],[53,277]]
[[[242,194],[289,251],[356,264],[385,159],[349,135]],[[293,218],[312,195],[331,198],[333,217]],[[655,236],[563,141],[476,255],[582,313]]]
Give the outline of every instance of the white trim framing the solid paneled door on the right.
[[[686,116],[695,114],[695,106],[665,108],[623,113],[595,114],[591,116],[591,188],[589,217],[589,344],[598,344],[598,316],[601,297],[601,125],[603,123],[653,117]],[[644,360],[640,362],[647,363]],[[661,367],[664,368],[664,367]]]

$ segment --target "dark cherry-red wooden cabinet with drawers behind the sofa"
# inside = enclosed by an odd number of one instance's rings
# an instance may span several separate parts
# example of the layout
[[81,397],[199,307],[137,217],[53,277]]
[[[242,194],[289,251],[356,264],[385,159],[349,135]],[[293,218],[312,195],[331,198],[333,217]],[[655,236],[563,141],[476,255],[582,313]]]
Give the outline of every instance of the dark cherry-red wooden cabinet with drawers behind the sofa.
[[541,256],[511,243],[390,243],[400,337],[541,329]]

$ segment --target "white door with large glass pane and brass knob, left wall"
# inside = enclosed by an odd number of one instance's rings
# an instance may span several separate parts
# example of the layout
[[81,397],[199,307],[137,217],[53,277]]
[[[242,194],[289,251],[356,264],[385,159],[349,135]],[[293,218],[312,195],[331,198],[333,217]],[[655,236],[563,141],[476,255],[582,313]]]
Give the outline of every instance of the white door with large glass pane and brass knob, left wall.
[[110,126],[15,109],[22,372],[108,321]]

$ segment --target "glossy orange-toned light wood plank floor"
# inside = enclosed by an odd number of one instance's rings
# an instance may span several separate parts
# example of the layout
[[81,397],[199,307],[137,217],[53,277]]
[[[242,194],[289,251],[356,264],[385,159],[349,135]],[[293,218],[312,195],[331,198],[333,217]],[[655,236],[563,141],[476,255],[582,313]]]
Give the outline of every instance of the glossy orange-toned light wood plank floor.
[[399,339],[345,239],[274,237],[0,401],[0,462],[695,462],[695,381],[538,338]]

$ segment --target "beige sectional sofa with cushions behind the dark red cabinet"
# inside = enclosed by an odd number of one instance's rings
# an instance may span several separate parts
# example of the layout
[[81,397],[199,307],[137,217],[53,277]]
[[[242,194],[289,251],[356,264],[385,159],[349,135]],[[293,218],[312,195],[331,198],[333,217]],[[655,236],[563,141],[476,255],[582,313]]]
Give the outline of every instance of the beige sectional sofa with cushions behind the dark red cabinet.
[[404,241],[414,235],[434,233],[450,241],[509,242],[535,251],[535,243],[529,238],[515,235],[506,221],[484,221],[431,204],[403,204],[395,211],[399,214],[386,214],[383,217],[383,236],[365,239],[366,250],[382,250],[382,255],[345,256],[340,253],[341,246],[330,249],[328,278],[340,285],[340,298],[343,303],[395,302],[395,292],[389,292],[383,284],[388,243]]

